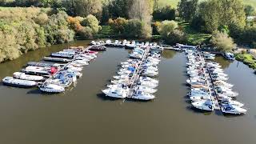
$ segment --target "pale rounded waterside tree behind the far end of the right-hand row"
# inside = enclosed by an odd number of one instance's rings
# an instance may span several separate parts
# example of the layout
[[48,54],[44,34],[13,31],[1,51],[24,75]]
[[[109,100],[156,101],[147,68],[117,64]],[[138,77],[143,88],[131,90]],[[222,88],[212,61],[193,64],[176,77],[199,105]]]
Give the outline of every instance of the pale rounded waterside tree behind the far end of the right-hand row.
[[221,51],[231,51],[236,46],[234,44],[233,38],[230,38],[228,34],[219,31],[214,32],[210,42],[212,42],[212,44]]

